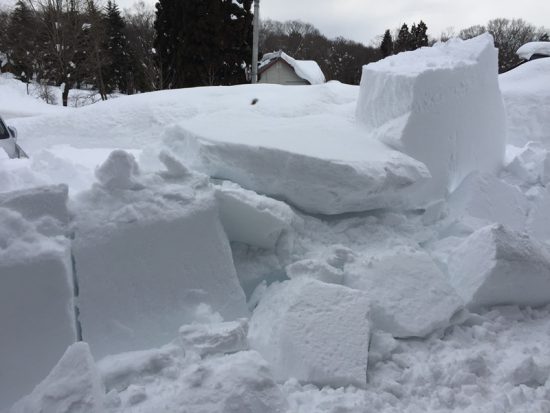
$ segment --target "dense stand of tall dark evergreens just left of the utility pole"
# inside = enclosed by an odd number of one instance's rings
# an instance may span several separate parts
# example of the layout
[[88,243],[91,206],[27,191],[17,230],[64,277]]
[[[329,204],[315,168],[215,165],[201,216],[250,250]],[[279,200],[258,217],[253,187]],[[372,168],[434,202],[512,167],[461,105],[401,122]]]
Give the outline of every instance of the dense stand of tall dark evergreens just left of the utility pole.
[[155,50],[163,87],[245,81],[252,0],[159,0]]

